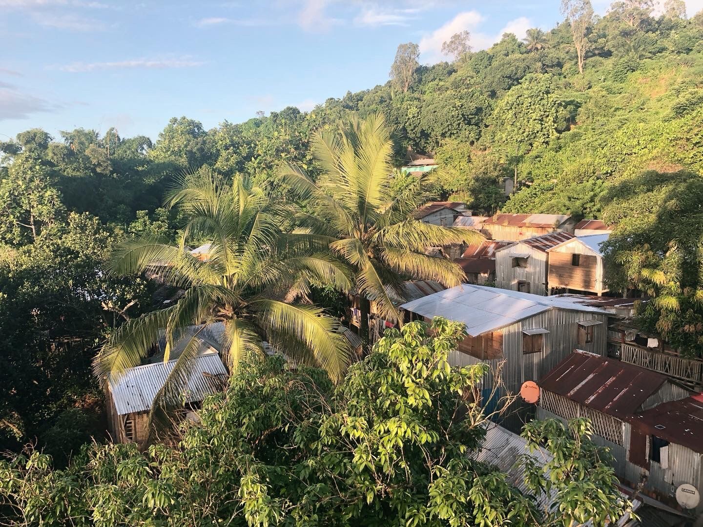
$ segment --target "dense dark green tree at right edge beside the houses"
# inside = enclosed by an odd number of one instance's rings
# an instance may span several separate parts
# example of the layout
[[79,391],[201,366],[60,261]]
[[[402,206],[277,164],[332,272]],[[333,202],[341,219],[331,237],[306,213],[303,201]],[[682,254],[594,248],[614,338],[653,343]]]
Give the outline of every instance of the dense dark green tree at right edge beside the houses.
[[607,281],[650,300],[637,319],[690,356],[703,345],[703,182],[688,171],[647,171],[612,185],[603,218],[615,229],[605,244]]

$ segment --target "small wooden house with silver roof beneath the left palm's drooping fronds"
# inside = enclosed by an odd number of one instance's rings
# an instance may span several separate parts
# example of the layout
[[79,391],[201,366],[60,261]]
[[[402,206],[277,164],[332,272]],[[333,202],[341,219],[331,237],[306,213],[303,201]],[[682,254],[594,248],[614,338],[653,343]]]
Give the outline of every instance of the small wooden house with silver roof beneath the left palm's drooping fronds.
[[[137,443],[139,448],[148,446],[149,412],[176,360],[127,368],[120,378],[108,379],[105,399],[113,441]],[[185,401],[186,408],[195,408],[206,396],[219,392],[226,378],[227,370],[219,354],[200,355],[193,360],[187,378],[181,379],[181,396],[172,403]]]

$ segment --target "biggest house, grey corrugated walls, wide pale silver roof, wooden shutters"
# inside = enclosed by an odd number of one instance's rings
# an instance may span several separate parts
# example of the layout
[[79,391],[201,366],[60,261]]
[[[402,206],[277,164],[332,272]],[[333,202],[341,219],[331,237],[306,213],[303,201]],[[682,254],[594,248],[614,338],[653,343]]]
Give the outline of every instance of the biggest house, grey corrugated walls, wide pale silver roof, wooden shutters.
[[[468,336],[451,353],[450,362],[465,366],[485,361],[491,366],[482,382],[488,411],[508,392],[519,392],[526,380],[546,375],[573,349],[606,354],[608,313],[569,298],[463,284],[401,308],[406,319],[444,316],[466,324]],[[500,384],[494,382],[498,370]],[[517,431],[530,417],[529,408],[522,406],[505,426]]]

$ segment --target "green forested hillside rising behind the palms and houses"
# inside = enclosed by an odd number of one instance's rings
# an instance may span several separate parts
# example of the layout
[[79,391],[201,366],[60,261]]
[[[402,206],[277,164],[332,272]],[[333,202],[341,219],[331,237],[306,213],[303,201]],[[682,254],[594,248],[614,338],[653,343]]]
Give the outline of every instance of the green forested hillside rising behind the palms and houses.
[[[124,239],[178,238],[179,218],[162,207],[174,178],[207,165],[285,193],[276,168],[314,175],[311,133],[349,112],[385,115],[397,166],[434,155],[443,198],[617,225],[614,281],[663,298],[648,323],[699,353],[703,13],[666,6],[654,15],[647,1],[616,2],[581,34],[567,12],[571,23],[505,34],[485,51],[458,35],[448,61],[432,66],[404,45],[386,84],[311,112],[288,107],[212,130],[183,116],[155,142],[115,128],[59,137],[33,128],[0,143],[0,448],[37,438],[60,457],[100,429],[90,411],[96,349],[163,300],[141,278],[104,274],[102,261]],[[507,198],[503,178],[517,181]]]

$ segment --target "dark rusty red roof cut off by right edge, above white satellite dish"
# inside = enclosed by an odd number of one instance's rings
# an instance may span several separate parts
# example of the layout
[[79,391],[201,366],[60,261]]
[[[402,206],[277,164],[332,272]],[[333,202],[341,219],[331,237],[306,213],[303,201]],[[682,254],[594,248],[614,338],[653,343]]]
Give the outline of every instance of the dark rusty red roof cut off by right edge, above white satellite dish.
[[703,394],[659,404],[631,422],[648,434],[703,453]]

